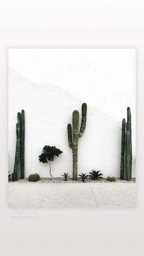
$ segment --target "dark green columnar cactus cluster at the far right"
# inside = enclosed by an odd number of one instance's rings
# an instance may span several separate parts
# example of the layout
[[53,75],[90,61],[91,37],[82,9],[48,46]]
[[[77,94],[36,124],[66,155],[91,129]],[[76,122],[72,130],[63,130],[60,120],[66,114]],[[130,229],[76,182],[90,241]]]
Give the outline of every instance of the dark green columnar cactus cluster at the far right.
[[131,109],[127,108],[127,122],[122,121],[120,179],[131,180],[132,175],[132,133]]

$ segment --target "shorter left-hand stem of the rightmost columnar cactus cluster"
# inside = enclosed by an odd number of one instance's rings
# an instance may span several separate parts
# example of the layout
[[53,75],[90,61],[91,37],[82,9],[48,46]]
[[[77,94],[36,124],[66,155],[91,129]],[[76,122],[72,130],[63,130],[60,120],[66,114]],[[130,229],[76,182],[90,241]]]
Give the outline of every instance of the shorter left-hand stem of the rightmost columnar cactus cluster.
[[125,148],[125,130],[126,120],[122,121],[122,132],[121,132],[121,164],[120,164],[120,179],[124,180],[124,148]]

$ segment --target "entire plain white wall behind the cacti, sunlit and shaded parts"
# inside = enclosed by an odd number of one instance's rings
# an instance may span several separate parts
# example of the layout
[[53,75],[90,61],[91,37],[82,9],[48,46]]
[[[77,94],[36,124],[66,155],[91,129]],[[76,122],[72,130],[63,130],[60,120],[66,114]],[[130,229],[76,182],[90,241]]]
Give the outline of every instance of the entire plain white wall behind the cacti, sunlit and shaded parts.
[[132,112],[132,176],[135,176],[135,49],[9,49],[9,170],[15,158],[16,113],[26,112],[26,177],[38,172],[44,145],[63,151],[54,177],[72,175],[67,124],[87,103],[87,128],[79,139],[78,172],[100,169],[120,176],[121,120]]

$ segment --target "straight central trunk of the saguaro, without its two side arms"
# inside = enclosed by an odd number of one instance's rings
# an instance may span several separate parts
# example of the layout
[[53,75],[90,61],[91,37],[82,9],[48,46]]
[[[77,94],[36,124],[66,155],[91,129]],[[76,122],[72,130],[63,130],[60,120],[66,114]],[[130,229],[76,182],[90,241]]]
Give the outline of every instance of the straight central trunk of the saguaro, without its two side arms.
[[79,111],[73,111],[73,180],[77,180],[77,150],[78,150]]

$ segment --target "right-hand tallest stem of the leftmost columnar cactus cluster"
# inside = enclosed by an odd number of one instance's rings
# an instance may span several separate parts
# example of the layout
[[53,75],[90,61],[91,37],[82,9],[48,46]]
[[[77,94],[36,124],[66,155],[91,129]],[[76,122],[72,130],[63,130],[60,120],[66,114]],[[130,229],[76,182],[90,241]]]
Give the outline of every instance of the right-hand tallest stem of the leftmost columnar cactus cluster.
[[24,178],[24,137],[25,137],[25,118],[24,110],[21,111],[21,178]]

